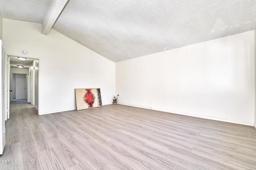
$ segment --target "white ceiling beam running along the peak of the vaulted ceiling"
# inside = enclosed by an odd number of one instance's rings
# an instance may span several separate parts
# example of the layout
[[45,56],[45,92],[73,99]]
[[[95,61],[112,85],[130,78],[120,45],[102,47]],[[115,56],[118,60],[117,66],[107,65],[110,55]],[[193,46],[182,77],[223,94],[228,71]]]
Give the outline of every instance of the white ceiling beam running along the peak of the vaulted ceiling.
[[42,34],[48,35],[67,2],[68,0],[52,0],[51,6],[42,23]]

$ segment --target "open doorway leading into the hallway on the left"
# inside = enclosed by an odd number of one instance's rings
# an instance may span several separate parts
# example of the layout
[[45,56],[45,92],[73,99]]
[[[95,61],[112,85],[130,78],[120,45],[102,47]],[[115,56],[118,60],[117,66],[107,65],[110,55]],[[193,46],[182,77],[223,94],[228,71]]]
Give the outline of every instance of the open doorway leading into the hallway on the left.
[[8,55],[7,119],[10,118],[12,106],[24,105],[34,107],[38,113],[38,72],[39,59]]

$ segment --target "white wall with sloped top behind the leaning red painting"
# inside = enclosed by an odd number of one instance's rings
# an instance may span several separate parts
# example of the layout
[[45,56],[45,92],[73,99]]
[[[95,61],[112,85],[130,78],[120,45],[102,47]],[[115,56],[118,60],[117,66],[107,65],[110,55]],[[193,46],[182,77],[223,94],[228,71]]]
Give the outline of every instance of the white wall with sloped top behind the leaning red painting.
[[[115,63],[54,29],[42,35],[42,25],[3,19],[5,52],[39,58],[39,114],[76,109],[75,88],[101,88],[102,104],[115,93]],[[26,56],[26,57],[27,57]]]

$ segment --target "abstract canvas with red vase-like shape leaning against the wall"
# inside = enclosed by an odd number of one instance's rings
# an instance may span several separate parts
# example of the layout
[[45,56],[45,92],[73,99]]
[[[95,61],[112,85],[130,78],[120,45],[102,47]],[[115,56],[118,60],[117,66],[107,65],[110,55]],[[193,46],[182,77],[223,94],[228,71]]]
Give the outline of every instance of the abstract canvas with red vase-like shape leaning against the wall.
[[102,106],[99,88],[76,88],[75,92],[77,110]]

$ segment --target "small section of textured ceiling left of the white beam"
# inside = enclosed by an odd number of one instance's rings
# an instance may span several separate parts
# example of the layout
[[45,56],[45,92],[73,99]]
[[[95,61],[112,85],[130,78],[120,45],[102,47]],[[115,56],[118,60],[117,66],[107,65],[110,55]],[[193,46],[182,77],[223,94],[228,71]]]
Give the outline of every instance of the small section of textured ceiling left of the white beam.
[[42,23],[51,0],[0,0],[2,17]]

